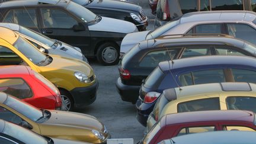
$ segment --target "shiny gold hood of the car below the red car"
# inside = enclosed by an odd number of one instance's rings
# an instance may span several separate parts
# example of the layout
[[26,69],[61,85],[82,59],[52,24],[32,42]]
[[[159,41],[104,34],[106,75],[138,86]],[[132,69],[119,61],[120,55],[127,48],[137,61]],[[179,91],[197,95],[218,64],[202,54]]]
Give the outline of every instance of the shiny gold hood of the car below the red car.
[[78,127],[81,129],[94,129],[102,132],[103,124],[95,117],[87,114],[73,113],[67,111],[50,111],[51,117],[43,125],[55,125],[61,127]]

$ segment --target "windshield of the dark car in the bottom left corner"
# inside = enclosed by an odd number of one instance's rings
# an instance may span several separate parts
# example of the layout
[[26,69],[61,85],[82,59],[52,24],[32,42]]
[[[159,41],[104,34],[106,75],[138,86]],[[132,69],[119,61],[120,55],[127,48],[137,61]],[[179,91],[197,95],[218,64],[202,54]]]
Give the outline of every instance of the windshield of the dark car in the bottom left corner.
[[27,144],[33,144],[34,142],[39,144],[48,143],[43,136],[37,135],[36,133],[31,132],[30,130],[24,129],[21,126],[8,122],[5,122],[5,127],[2,133],[14,137],[15,139],[18,139],[21,142]]

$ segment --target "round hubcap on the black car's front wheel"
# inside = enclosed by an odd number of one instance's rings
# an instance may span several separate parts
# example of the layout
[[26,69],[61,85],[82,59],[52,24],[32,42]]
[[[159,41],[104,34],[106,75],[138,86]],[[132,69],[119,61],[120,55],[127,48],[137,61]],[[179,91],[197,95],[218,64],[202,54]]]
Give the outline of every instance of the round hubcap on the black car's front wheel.
[[114,62],[117,59],[117,50],[111,46],[105,47],[105,49],[101,53],[101,57],[106,63]]

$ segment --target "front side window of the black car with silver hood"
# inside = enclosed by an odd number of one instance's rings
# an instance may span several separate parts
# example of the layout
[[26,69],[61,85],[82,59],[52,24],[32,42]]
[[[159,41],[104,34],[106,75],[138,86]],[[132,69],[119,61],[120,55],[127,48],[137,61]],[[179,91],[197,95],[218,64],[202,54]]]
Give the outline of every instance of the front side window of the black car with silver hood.
[[60,9],[41,9],[44,28],[72,28],[78,22]]

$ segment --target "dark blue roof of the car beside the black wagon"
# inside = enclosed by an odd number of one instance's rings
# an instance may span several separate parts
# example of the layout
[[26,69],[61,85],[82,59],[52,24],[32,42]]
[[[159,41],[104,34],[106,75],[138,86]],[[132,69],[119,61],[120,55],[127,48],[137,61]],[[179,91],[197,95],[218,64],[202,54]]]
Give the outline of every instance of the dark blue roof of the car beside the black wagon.
[[[239,59],[239,60],[238,60]],[[160,62],[158,65],[163,72],[175,69],[193,68],[195,66],[245,65],[256,68],[256,59],[249,56],[197,56]]]

